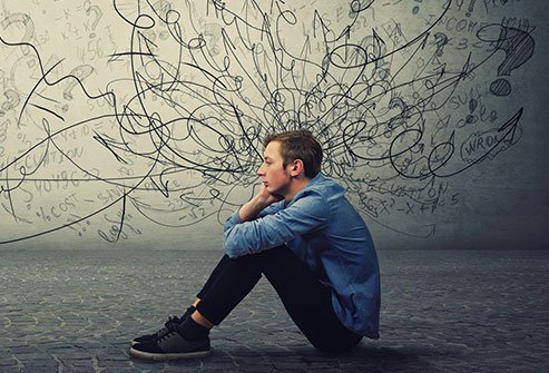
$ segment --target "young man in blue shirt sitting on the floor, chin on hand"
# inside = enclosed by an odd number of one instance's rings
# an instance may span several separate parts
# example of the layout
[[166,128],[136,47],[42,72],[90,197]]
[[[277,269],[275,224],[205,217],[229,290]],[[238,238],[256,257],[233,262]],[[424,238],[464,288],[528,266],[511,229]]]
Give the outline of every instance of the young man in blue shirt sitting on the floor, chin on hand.
[[134,340],[133,356],[206,356],[209,330],[262,275],[315,349],[344,352],[363,336],[379,337],[374,245],[344,188],[320,174],[321,145],[310,131],[295,130],[268,136],[264,146],[261,189],[226,222],[226,254],[183,317]]

